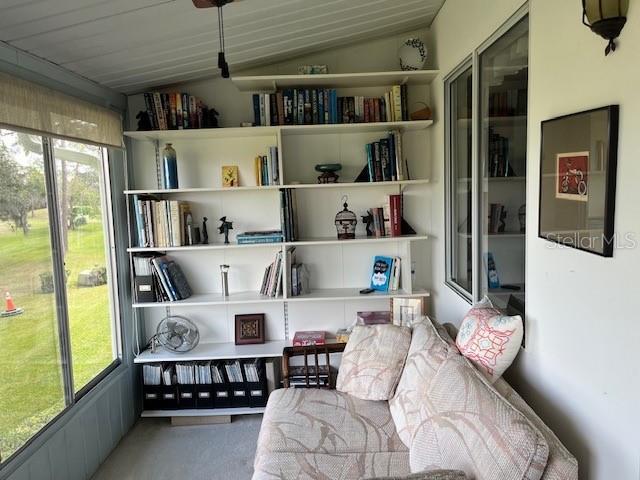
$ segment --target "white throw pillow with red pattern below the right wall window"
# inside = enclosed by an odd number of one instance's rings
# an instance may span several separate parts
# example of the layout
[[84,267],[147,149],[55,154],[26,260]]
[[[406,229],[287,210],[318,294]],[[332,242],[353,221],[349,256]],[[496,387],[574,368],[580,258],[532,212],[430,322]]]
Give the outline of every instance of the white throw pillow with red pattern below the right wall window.
[[522,343],[522,317],[510,317],[485,297],[460,325],[456,345],[490,382],[495,382],[516,358]]

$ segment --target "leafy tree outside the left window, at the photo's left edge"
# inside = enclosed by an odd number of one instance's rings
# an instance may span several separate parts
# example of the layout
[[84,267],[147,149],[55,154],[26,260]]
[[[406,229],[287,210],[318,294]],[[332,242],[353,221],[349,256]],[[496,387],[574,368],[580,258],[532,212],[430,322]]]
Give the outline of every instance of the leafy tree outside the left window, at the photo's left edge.
[[27,215],[46,205],[44,175],[35,167],[24,168],[0,145],[0,220],[29,233]]

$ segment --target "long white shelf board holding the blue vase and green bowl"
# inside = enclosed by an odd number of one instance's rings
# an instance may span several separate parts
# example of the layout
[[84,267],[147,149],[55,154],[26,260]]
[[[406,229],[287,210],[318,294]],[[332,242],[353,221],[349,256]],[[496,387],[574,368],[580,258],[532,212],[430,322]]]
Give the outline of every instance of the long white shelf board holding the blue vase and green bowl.
[[[508,177],[516,178],[516,177]],[[176,188],[173,190],[151,189],[151,190],[125,190],[125,195],[176,195],[181,193],[218,193],[218,192],[255,192],[272,191],[280,188],[295,189],[327,189],[327,188],[382,188],[382,187],[408,187],[411,185],[426,185],[428,179],[416,180],[395,180],[386,182],[344,182],[344,183],[291,183],[287,185],[267,185],[267,186],[242,186],[242,187],[212,187],[212,188]]]

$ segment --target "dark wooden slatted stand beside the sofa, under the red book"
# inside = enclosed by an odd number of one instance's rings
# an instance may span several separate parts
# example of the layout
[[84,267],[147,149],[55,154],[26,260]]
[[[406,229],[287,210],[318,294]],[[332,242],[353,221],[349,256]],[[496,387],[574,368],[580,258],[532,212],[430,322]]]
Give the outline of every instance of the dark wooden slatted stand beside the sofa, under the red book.
[[[305,345],[300,347],[285,347],[282,351],[282,382],[285,388],[289,388],[291,379],[291,365],[289,361],[293,357],[304,357],[302,375],[304,376],[304,387],[306,388],[333,388],[335,379],[331,371],[331,354],[342,353],[346,343],[327,343],[325,345]],[[313,364],[309,365],[309,357],[313,358]],[[319,358],[324,357],[324,364]],[[327,366],[327,384],[320,382],[321,367]],[[324,372],[322,372],[324,374]]]

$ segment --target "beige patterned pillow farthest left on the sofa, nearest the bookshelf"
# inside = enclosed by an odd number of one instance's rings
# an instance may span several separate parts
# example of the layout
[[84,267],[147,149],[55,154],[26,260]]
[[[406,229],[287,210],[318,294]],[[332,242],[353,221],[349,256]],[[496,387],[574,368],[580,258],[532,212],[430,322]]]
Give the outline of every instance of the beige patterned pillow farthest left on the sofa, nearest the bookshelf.
[[397,325],[356,325],[342,354],[336,390],[363,400],[389,400],[411,343],[411,330]]

